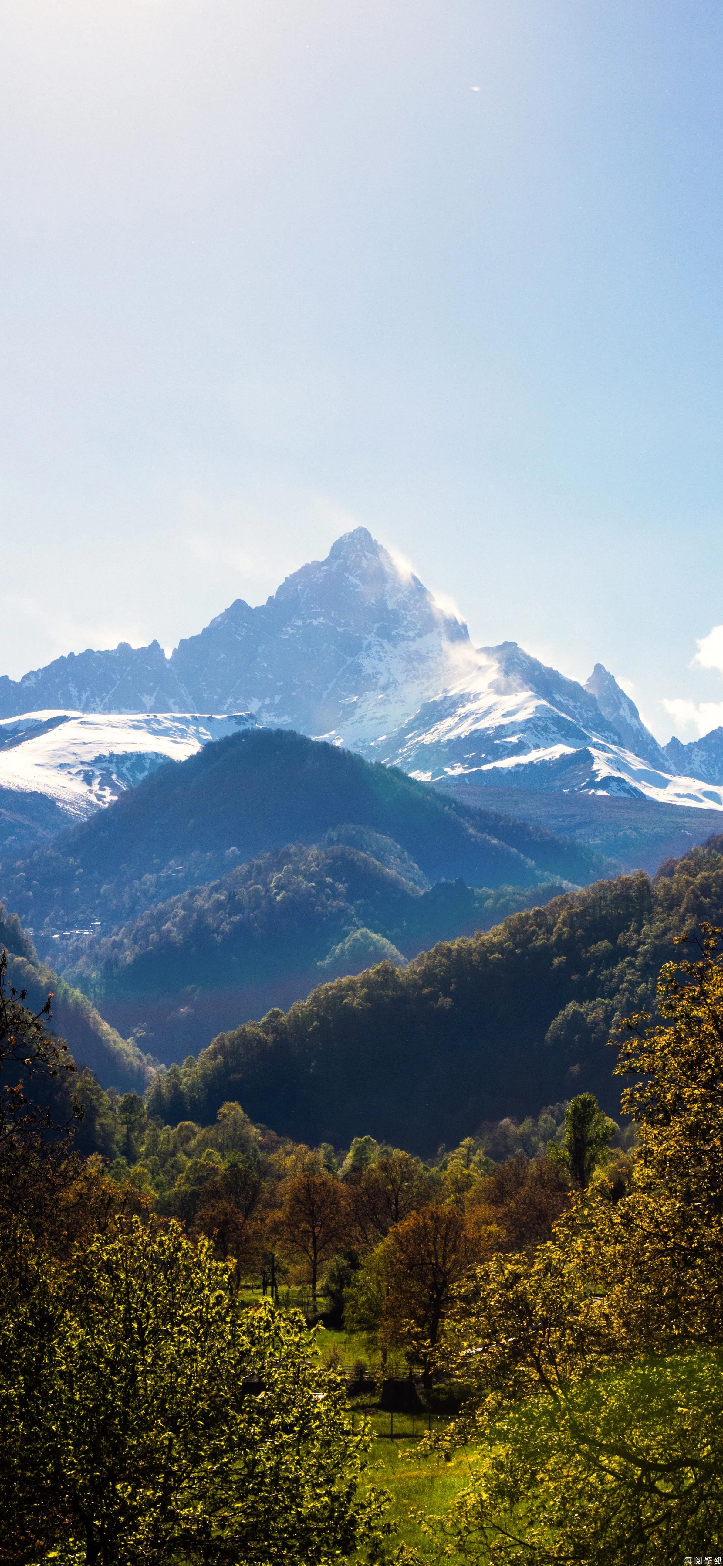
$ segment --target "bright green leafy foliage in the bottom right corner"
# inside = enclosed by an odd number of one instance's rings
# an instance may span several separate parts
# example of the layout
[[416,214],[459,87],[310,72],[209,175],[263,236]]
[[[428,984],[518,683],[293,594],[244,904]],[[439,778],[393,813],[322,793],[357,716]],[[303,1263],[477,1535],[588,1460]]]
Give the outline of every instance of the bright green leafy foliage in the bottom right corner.
[[432,1525],[488,1566],[620,1566],[720,1553],[723,1356],[676,1355],[548,1392],[490,1422],[473,1480]]

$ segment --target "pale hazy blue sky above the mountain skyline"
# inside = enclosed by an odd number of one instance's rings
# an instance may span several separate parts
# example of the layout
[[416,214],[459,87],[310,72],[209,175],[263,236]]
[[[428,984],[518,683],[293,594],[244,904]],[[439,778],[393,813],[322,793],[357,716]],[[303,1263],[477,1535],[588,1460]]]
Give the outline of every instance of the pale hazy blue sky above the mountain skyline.
[[720,0],[0,17],[0,673],[365,523],[477,642],[723,722]]

